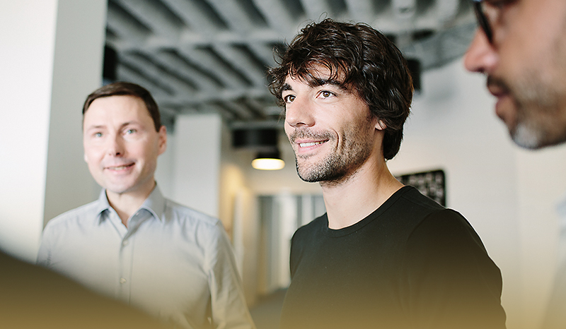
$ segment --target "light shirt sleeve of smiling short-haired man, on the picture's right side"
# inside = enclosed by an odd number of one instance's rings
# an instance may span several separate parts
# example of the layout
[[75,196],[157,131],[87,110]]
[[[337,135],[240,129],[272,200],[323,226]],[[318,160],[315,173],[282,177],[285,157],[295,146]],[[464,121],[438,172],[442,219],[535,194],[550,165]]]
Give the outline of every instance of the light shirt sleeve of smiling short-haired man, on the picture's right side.
[[217,329],[255,329],[228,236],[219,223],[209,259],[212,324]]

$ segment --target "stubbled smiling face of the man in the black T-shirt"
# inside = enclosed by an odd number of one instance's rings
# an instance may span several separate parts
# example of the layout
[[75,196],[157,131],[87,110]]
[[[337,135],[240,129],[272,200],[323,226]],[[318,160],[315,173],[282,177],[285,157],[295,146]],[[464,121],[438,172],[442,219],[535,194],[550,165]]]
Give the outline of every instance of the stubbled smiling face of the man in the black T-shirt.
[[301,179],[338,184],[381,155],[381,128],[358,95],[327,80],[328,70],[320,68],[318,78],[285,79],[285,132]]

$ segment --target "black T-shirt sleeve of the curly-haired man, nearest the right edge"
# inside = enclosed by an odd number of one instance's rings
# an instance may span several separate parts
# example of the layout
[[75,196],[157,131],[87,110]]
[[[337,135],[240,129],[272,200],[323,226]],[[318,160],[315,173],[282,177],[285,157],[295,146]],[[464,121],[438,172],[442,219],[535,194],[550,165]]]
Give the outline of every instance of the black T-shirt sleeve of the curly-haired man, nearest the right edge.
[[414,328],[505,328],[501,273],[462,215],[429,215],[406,255],[405,309]]

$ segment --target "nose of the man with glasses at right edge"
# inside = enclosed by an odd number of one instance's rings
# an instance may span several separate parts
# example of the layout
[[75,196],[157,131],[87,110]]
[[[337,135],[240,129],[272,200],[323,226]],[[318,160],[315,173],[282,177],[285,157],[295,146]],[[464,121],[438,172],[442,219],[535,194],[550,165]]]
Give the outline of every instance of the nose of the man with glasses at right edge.
[[464,56],[464,66],[470,72],[489,74],[497,66],[499,55],[483,30],[476,30],[472,43]]

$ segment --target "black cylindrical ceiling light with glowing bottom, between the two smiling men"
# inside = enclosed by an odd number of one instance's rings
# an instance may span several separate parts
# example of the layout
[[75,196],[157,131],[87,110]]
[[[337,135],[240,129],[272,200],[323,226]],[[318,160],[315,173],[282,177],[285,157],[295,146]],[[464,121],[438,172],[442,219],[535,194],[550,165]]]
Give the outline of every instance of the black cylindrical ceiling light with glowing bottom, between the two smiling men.
[[285,167],[277,146],[277,128],[236,128],[232,131],[234,148],[248,148],[258,152],[252,167],[260,170],[279,170]]

